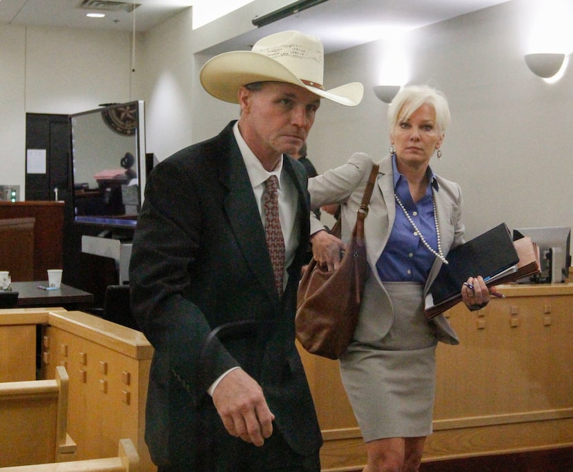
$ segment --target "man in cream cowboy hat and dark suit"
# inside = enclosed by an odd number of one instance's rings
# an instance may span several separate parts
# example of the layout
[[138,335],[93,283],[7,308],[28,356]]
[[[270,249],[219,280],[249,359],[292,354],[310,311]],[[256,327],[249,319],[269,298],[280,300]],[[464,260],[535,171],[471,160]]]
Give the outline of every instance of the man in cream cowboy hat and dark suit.
[[296,31],[213,57],[202,86],[239,104],[240,118],[148,178],[130,287],[155,348],[146,442],[159,471],[320,470],[320,429],[294,343],[307,176],[286,154],[306,141],[321,98],[362,99],[360,83],[325,90],[323,60],[320,40]]

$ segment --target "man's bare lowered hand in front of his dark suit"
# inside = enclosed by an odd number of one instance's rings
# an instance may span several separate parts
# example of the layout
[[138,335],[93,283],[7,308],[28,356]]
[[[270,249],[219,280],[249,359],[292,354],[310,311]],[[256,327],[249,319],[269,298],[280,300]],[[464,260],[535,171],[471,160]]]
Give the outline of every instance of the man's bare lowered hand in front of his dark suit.
[[223,377],[213,391],[213,404],[230,435],[262,446],[273,433],[275,415],[260,385],[241,368]]

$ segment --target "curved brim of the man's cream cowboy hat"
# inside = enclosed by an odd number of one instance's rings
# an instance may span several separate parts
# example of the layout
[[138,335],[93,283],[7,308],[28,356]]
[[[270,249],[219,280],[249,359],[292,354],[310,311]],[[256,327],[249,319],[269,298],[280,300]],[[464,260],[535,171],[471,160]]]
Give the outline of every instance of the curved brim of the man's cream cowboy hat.
[[364,95],[364,87],[360,82],[347,83],[331,90],[308,86],[278,61],[252,51],[224,52],[215,56],[201,68],[199,77],[209,94],[232,104],[239,103],[238,91],[242,86],[262,81],[293,83],[345,106],[360,104]]

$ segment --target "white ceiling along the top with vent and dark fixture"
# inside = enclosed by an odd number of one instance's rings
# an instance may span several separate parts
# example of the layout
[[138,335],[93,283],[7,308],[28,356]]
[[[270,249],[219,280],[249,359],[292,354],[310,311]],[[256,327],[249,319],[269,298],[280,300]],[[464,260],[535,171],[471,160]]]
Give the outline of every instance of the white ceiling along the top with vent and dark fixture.
[[[134,1],[139,3],[135,9],[138,32],[153,28],[193,3],[193,0]],[[272,32],[297,29],[320,37],[325,52],[334,52],[379,39],[396,25],[420,28],[505,1],[508,0],[328,0],[271,25],[255,28],[220,44],[217,49],[244,49]],[[89,19],[88,10],[80,8],[81,3],[82,0],[0,0],[0,25],[133,30],[132,13],[122,9],[106,12],[105,19]],[[261,15],[269,12],[261,12]]]

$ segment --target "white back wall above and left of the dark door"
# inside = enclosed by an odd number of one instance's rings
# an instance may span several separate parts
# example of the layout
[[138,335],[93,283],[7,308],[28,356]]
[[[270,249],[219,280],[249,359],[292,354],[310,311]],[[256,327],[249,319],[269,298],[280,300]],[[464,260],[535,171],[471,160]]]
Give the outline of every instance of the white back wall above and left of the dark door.
[[0,28],[0,185],[19,185],[24,198],[27,112],[68,115],[142,98],[131,40],[125,32]]

